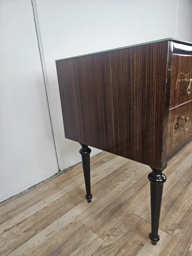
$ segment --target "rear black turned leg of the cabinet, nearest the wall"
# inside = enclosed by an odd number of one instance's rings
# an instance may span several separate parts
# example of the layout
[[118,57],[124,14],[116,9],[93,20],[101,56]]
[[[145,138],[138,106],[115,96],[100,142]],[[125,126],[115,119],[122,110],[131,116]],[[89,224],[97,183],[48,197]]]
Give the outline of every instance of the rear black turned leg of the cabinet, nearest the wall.
[[86,199],[87,202],[90,203],[92,199],[91,194],[91,177],[90,177],[90,153],[91,149],[88,148],[87,145],[80,143],[82,148],[80,149],[80,154],[82,158],[82,165],[83,165],[83,173],[85,179],[85,188],[86,188]]

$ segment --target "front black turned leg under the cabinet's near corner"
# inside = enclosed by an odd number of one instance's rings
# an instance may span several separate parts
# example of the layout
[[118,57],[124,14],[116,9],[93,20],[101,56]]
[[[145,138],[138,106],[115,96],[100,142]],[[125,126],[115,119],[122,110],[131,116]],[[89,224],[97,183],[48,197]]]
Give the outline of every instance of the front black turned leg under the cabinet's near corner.
[[[165,168],[167,165],[165,166]],[[150,181],[151,188],[151,233],[149,238],[153,245],[156,245],[160,240],[158,235],[159,228],[159,218],[161,210],[161,200],[163,195],[163,184],[166,182],[166,176],[162,173],[162,170],[152,168],[151,173],[148,174],[148,179]]]

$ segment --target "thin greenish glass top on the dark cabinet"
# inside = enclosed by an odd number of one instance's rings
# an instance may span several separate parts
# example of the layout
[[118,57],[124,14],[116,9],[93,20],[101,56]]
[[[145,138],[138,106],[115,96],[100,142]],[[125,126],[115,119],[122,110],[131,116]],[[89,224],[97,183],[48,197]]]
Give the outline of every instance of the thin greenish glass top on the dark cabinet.
[[72,59],[72,58],[77,58],[77,57],[82,57],[82,56],[87,56],[87,55],[92,55],[92,54],[97,54],[97,53],[105,53],[105,52],[107,52],[107,51],[114,51],[114,50],[119,50],[119,49],[124,49],[124,48],[139,46],[139,45],[145,45],[145,44],[152,44],[152,43],[157,43],[157,42],[162,42],[162,41],[173,41],[173,42],[176,42],[176,43],[177,43],[177,42],[180,42],[180,43],[192,44],[192,43],[187,42],[187,41],[183,41],[183,40],[179,40],[179,39],[170,37],[170,38],[164,38],[164,39],[160,39],[160,40],[155,40],[155,41],[150,41],[150,42],[135,44],[135,45],[123,46],[123,47],[114,48],[114,49],[109,49],[109,50],[96,51],[95,53],[88,53],[88,54],[83,54],[83,55],[78,55],[78,56],[73,56],[73,57],[58,59],[58,60],[55,60],[55,61],[67,60],[67,59]]

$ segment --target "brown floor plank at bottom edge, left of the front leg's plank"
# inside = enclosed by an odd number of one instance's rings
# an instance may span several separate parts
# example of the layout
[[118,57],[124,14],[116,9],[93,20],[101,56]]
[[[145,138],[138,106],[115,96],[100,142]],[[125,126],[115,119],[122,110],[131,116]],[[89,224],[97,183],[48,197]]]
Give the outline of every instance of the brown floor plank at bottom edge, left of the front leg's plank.
[[99,236],[77,219],[41,239],[31,246],[24,244],[10,256],[92,255],[104,243]]

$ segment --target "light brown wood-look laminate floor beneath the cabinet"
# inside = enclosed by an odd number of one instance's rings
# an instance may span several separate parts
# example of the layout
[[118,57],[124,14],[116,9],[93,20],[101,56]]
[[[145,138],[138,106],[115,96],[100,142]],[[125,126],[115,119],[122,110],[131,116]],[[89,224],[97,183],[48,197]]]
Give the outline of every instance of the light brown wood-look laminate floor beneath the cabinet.
[[150,171],[103,153],[91,160],[91,203],[80,165],[2,206],[0,255],[192,255],[192,143],[164,171],[156,246],[148,238]]

